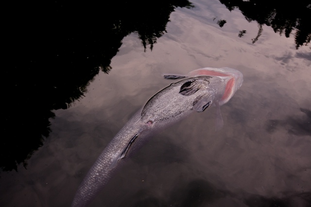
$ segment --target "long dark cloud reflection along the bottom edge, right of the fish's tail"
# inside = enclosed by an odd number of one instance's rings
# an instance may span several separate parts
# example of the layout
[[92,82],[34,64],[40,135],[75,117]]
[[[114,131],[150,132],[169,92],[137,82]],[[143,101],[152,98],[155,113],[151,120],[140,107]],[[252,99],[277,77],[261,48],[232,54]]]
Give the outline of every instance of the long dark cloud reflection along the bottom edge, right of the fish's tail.
[[195,179],[188,183],[178,183],[171,196],[157,196],[150,190],[138,190],[134,195],[125,199],[119,206],[128,207],[290,207],[299,204],[307,207],[310,204],[311,192],[284,193],[282,197],[265,197],[242,192],[230,192],[217,189],[203,179]]

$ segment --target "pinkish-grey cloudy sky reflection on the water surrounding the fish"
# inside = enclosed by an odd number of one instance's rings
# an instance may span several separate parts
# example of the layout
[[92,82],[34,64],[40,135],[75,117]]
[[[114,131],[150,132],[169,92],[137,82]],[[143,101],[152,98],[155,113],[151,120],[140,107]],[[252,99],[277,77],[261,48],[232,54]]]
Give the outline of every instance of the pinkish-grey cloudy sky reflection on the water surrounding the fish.
[[[178,8],[153,50],[126,36],[109,74],[96,76],[69,109],[55,110],[52,133],[28,170],[1,173],[0,206],[69,206],[106,144],[139,107],[202,67],[230,67],[244,82],[215,112],[193,113],[150,140],[105,187],[91,207],[301,206],[311,202],[311,52],[238,9],[196,0]],[[216,19],[214,19],[216,17]],[[223,27],[217,20],[225,19]],[[242,37],[239,31],[246,30]]]

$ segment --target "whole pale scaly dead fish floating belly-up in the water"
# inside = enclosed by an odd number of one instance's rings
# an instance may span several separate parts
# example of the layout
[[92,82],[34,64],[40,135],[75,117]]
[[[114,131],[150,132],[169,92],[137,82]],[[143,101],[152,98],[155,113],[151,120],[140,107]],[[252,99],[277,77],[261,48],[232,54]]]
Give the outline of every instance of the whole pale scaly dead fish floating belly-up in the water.
[[166,74],[164,78],[185,79],[156,93],[123,126],[86,174],[71,207],[86,207],[127,157],[156,131],[181,120],[192,111],[202,112],[215,105],[216,128],[221,128],[220,105],[227,103],[243,82],[242,73],[230,68],[202,68],[186,76]]

